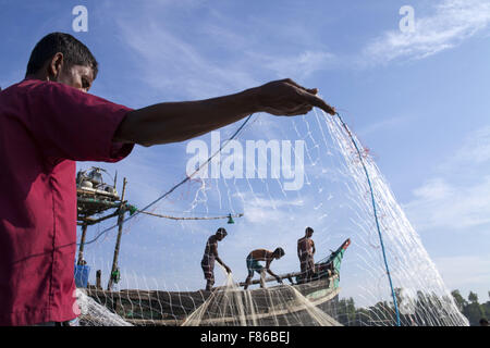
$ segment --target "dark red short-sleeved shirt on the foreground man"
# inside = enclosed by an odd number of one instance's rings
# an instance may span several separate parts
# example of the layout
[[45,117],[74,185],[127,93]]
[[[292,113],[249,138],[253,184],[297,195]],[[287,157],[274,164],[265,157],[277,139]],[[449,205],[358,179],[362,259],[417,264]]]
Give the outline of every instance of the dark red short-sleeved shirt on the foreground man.
[[126,157],[128,111],[59,83],[0,91],[0,325],[77,316],[75,161]]

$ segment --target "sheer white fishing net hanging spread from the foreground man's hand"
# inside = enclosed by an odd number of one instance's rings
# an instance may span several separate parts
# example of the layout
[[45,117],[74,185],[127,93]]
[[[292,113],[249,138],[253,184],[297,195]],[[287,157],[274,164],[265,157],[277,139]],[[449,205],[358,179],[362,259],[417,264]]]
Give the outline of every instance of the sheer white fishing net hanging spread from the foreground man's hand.
[[[114,221],[87,229],[83,291],[94,308],[135,325],[468,324],[372,157],[340,116],[256,114],[240,128],[134,152],[105,165],[127,176],[132,207],[117,273]],[[331,272],[302,282],[297,240],[307,226],[316,271]],[[217,263],[210,293],[200,261],[219,227],[228,231],[219,256],[232,273]],[[327,261],[346,239],[333,268]],[[272,277],[266,288],[244,290],[247,254],[277,247],[285,256],[270,268],[289,274],[283,284]],[[103,322],[91,312],[82,311],[82,323]]]

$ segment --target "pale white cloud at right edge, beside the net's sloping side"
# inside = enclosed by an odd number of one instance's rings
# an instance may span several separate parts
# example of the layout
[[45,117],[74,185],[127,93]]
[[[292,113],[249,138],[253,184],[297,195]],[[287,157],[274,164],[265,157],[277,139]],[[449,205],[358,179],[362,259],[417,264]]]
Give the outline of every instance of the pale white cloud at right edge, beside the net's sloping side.
[[[475,130],[404,206],[419,231],[490,224],[490,127]],[[483,173],[483,175],[482,175]]]

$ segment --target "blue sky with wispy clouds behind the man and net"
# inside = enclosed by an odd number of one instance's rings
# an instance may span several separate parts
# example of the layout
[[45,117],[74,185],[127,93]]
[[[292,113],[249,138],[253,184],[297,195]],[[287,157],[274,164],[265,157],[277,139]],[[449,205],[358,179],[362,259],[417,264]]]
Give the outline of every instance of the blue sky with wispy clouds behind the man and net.
[[[72,9],[78,4],[88,10],[87,33],[72,29]],[[399,10],[406,4],[415,10],[416,27],[411,34],[399,28]],[[446,286],[464,295],[477,290],[488,300],[490,1],[0,0],[0,8],[2,88],[23,78],[32,48],[53,30],[76,36],[99,61],[100,73],[90,92],[132,108],[232,94],[283,77],[319,88],[370,149]],[[260,115],[243,139],[295,139],[287,122]],[[295,122],[303,132],[301,121]],[[223,129],[222,138],[236,126]],[[209,136],[201,138],[209,142]],[[137,147],[123,162],[105,167],[128,177],[128,197],[143,207],[183,177],[189,158],[185,147]],[[199,191],[198,183],[189,184],[158,211],[170,211],[174,204],[177,215],[189,208],[196,192],[199,199],[207,192],[209,201],[197,204],[194,212],[244,208],[230,207],[226,199],[216,203],[211,196],[220,185],[211,182]],[[229,192],[223,186],[219,194]],[[274,189],[269,194],[267,199],[260,197],[264,207],[256,200],[255,208],[270,209],[271,199],[277,199],[279,212],[283,197]],[[301,204],[293,195],[287,199],[292,207]],[[311,204],[318,203],[316,197]],[[267,219],[257,214],[250,216]],[[148,279],[164,277],[163,283],[177,287],[200,285],[200,270],[193,262],[198,263],[204,240],[217,223],[189,227],[148,219],[128,223],[124,235],[126,253],[121,263],[132,270],[133,278],[144,273],[138,263],[145,265]],[[238,270],[244,269],[241,259],[247,251],[226,253],[226,246],[252,247],[253,234],[247,237],[246,228],[237,225],[231,227],[236,227],[236,235],[228,237],[228,245],[223,241],[221,252]],[[184,231],[191,233],[184,236]],[[264,246],[272,248],[274,237],[269,238]],[[326,248],[342,241],[329,238],[326,233]],[[111,233],[91,247],[94,260],[109,263],[113,240]],[[163,262],[176,270],[177,261],[169,260],[177,258],[188,259],[186,269],[194,273],[185,277],[196,282],[159,273]],[[296,262],[294,256],[291,260]],[[160,281],[148,282],[149,287],[151,282],[160,285]]]

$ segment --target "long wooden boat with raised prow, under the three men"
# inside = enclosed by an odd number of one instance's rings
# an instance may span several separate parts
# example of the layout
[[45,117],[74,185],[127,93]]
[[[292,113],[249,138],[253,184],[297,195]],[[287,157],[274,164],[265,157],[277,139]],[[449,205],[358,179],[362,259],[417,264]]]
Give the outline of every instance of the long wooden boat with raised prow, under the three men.
[[[327,324],[340,325],[333,318],[340,293],[340,266],[350,244],[350,239],[345,240],[338,250],[316,263],[310,279],[305,279],[301,273],[280,275],[290,281],[289,285],[249,290],[241,289],[244,285],[241,283],[212,291],[108,291],[95,287],[84,291],[134,325],[316,325],[311,312],[317,310],[324,313]],[[270,281],[275,278],[266,278]],[[83,324],[83,316],[81,321]]]

